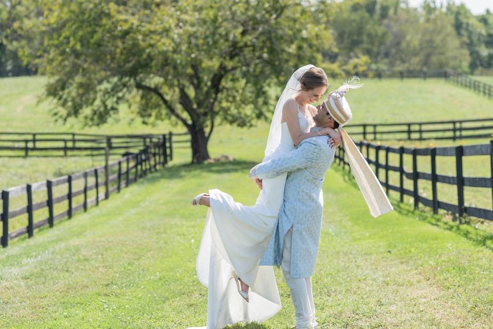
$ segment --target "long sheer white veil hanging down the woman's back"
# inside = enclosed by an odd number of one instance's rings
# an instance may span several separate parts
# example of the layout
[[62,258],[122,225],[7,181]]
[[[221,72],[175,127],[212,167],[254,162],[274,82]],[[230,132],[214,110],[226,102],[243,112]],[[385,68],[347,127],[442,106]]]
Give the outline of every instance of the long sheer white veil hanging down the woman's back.
[[273,152],[277,145],[279,145],[281,141],[281,119],[282,119],[282,106],[284,103],[295,95],[300,87],[299,80],[308,71],[310,68],[315,67],[315,65],[308,64],[305,66],[301,66],[298,68],[291,78],[289,78],[286,87],[284,88],[279,100],[277,101],[276,109],[274,111],[274,115],[272,117],[271,129],[269,130],[269,137],[267,139],[267,146],[265,155],[269,155]]

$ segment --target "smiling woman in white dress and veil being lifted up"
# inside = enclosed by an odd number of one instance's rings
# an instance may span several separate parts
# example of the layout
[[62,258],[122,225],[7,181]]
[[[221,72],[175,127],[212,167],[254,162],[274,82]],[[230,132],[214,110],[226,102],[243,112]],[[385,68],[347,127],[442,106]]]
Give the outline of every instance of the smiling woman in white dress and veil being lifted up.
[[[340,143],[339,134],[331,128],[309,132],[316,114],[312,103],[327,87],[321,68],[305,65],[294,72],[277,102],[263,161],[285,155],[302,140],[319,134],[329,135],[333,146]],[[203,329],[261,322],[281,308],[273,267],[258,264],[277,220],[286,174],[256,182],[261,190],[252,207],[220,190],[209,190],[192,202],[210,207],[196,263],[197,277],[208,287]]]

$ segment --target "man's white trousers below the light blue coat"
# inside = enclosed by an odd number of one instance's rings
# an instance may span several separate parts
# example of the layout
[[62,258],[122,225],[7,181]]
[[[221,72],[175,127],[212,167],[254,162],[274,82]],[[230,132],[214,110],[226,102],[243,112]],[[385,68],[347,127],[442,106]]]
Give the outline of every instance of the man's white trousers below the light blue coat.
[[291,300],[294,305],[296,315],[296,329],[314,329],[317,326],[315,321],[315,304],[312,294],[312,277],[293,279],[290,274],[291,260],[291,228],[285,235],[284,247],[282,249],[282,273],[291,291]]

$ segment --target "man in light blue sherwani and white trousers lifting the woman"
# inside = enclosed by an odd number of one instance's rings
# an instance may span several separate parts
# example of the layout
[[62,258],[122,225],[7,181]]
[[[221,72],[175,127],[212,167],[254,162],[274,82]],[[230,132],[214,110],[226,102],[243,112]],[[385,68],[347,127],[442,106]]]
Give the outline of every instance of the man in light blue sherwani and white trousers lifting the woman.
[[[339,126],[325,102],[317,110],[311,131]],[[317,325],[311,276],[320,240],[323,211],[320,192],[335,155],[327,138],[305,139],[287,155],[259,163],[250,171],[250,178],[255,179],[288,173],[279,216],[260,265],[282,266],[295,308],[296,329],[313,329]]]

